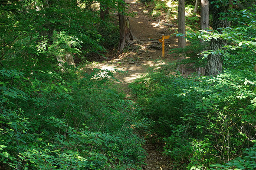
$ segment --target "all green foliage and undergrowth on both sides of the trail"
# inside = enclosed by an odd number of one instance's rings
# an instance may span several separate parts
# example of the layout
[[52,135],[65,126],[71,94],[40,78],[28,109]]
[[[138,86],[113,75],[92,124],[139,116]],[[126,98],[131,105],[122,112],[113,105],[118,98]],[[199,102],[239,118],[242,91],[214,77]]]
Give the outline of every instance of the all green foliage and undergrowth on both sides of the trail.
[[[154,5],[155,18],[169,7],[167,0],[141,1]],[[190,45],[176,51],[188,58],[183,63],[205,65],[199,38],[226,38],[220,51],[203,53],[220,52],[225,71],[184,77],[174,64],[152,68],[130,85],[135,104],[110,85],[111,72],[88,74],[82,62],[56,61],[70,54],[86,61],[115,48],[115,18],[100,21],[88,0],[8,2],[0,6],[0,169],[139,170],[144,141],[133,129],[161,141],[175,168],[256,168],[255,13],[230,11],[233,25],[221,36],[198,32],[198,17],[187,17]],[[118,11],[117,3],[123,1],[105,5]]]

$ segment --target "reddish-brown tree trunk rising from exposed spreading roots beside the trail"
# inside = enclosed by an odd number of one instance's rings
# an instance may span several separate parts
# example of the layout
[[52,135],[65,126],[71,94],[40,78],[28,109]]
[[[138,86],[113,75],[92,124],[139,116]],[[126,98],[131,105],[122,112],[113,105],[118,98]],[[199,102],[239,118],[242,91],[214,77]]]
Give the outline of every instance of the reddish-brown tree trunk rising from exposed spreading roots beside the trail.
[[[123,9],[124,9],[124,6],[123,6]],[[129,42],[133,42],[135,38],[134,38],[134,35],[131,33],[129,19],[126,18],[124,13],[119,12],[118,14],[119,14],[119,31],[120,31],[118,53],[121,54],[125,46],[128,45]]]

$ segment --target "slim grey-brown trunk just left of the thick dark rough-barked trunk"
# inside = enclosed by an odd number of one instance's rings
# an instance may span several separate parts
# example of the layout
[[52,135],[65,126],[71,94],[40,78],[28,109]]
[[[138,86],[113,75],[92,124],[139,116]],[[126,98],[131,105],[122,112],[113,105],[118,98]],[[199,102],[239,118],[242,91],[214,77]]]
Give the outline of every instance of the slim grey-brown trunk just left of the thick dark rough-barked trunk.
[[[209,10],[210,10],[210,3],[209,0],[201,0],[201,19],[200,19],[200,29],[206,30],[209,28]],[[206,43],[203,39],[200,39],[200,45],[205,46]],[[204,48],[203,51],[207,50]],[[204,75],[205,69],[204,67],[198,68],[198,74]]]

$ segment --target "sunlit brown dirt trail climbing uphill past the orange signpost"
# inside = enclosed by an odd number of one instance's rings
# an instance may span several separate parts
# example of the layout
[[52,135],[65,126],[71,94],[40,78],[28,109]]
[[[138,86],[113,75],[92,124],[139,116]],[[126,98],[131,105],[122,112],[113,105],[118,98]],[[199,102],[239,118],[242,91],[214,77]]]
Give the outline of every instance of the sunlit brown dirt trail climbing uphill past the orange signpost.
[[[156,21],[144,13],[144,5],[138,2],[138,0],[126,0],[126,3],[128,4],[129,10],[136,13],[134,17],[129,17],[131,31],[136,38],[143,41],[143,44],[141,45],[142,50],[147,52],[139,55],[136,52],[129,53],[128,55],[124,54],[126,55],[125,57],[105,62],[97,67],[102,70],[115,71],[115,69],[118,69],[120,71],[128,71],[127,74],[115,73],[115,77],[120,80],[121,91],[123,91],[129,98],[131,96],[128,88],[129,83],[147,73],[148,67],[166,64],[169,61],[173,61],[174,58],[167,54],[167,50],[165,51],[165,58],[161,58],[161,49],[148,48],[152,45],[152,42],[157,43],[162,34],[171,34],[171,32],[168,31],[169,26],[165,26],[164,22],[159,20]],[[175,28],[175,26],[172,28]],[[158,44],[158,46],[161,45]],[[166,41],[166,48],[167,47],[177,48],[177,38],[171,37],[168,39]]]

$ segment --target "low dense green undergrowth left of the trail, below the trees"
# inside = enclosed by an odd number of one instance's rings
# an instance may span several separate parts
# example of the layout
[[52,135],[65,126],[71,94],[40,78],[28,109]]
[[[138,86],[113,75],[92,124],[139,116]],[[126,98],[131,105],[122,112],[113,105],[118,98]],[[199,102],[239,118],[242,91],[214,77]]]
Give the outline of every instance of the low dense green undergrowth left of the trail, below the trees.
[[0,169],[137,169],[144,159],[143,141],[131,128],[138,106],[100,74],[2,68]]

